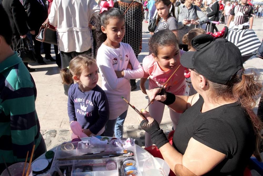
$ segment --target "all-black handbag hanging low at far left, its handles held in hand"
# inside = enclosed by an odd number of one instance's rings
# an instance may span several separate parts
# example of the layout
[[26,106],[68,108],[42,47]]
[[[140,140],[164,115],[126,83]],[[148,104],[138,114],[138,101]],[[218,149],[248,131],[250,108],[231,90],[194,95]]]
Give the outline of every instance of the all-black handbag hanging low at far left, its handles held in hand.
[[21,37],[21,45],[17,50],[18,56],[22,59],[23,62],[36,62],[35,51],[33,45],[29,41],[28,37]]

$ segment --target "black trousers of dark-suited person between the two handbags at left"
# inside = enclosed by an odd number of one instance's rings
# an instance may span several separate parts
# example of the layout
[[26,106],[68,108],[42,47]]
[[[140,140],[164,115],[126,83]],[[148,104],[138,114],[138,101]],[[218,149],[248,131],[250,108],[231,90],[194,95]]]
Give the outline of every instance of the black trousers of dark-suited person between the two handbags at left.
[[[37,33],[35,35],[32,35],[32,39],[33,39],[33,42],[34,42],[34,50],[35,50],[35,53],[36,53],[37,61],[43,61],[43,58],[42,58],[42,56],[40,54],[40,52],[41,52],[41,43],[42,42],[36,40],[36,36],[37,35],[38,35]],[[51,54],[50,47],[51,47],[51,44],[43,42],[43,49],[44,49],[45,57],[51,56],[50,55]]]

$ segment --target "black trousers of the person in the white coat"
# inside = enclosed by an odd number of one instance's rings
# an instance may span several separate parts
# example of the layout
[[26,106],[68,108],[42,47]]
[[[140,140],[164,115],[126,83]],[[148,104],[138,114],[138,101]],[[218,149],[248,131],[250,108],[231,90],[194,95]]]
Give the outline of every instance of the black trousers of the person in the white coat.
[[[84,51],[82,53],[78,53],[76,51],[72,51],[72,52],[64,52],[64,51],[60,51],[60,55],[61,55],[61,68],[66,68],[69,66],[69,62],[71,59],[73,59],[75,56],[77,55],[81,55],[81,54],[91,54],[92,50],[89,49],[88,51]],[[70,87],[70,85],[67,85],[67,84],[63,84],[63,87],[64,87],[64,94],[66,96],[68,96],[68,89]]]

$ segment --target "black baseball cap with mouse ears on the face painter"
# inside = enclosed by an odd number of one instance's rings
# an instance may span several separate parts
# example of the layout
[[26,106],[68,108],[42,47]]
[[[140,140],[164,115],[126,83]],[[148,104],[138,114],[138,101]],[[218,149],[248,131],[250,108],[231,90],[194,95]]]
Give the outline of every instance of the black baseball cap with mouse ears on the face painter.
[[182,54],[180,63],[212,82],[226,84],[243,68],[240,50],[227,39],[201,34],[194,37],[191,44],[196,51]]

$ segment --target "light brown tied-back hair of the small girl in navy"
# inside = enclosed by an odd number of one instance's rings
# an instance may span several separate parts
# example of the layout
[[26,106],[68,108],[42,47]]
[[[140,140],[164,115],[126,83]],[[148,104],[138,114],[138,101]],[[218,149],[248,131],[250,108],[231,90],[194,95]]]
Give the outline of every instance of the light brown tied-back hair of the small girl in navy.
[[96,64],[96,60],[87,55],[78,55],[69,62],[69,69],[60,70],[62,83],[73,84],[73,75],[80,76],[84,68],[90,68],[92,64]]

